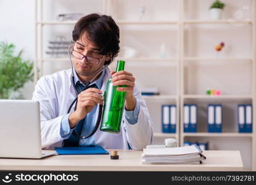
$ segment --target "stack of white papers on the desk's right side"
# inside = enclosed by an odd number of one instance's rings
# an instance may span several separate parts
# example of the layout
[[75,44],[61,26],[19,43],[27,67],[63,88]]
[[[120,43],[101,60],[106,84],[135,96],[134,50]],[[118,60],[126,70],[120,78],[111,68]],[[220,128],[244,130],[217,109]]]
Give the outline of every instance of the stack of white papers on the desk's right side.
[[142,153],[142,163],[201,164],[205,159],[202,150],[196,144],[163,149],[143,149]]

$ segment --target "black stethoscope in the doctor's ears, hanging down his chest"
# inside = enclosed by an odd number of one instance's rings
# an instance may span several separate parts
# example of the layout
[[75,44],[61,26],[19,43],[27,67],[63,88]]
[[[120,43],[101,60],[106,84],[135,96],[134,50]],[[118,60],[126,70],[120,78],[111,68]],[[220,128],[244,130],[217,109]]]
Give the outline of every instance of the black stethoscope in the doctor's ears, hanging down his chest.
[[[74,82],[74,68],[73,68],[73,62],[72,62],[72,58],[71,58],[71,52],[72,52],[72,49],[74,47],[74,44],[71,44],[69,47],[68,47],[68,55],[69,55],[69,58],[70,58],[70,63],[71,63],[71,66],[72,66],[72,84],[73,84],[73,87],[75,88],[75,82]],[[85,87],[82,89],[82,91],[85,91],[85,89],[88,88],[89,84],[91,84],[95,78],[97,77],[97,75],[99,75],[103,70],[105,70],[105,68],[107,68],[109,65],[104,65],[104,67],[102,68],[102,70],[100,70],[91,80],[89,81],[86,81],[86,83],[83,83],[85,85]],[[77,100],[78,100],[78,90],[75,88],[76,90],[76,98],[73,100],[73,102],[70,104],[69,108],[68,108],[68,112],[67,113],[70,113],[70,110],[72,109],[73,105],[75,104],[75,109],[74,111],[76,110],[76,105],[77,105]],[[104,103],[104,102],[103,102]],[[75,129],[72,131],[72,134],[75,135],[76,137],[80,138],[80,139],[86,139],[86,138],[89,138],[91,136],[93,136],[94,133],[96,133],[97,129],[99,128],[99,124],[101,123],[101,118],[102,118],[102,109],[103,109],[103,105],[99,105],[99,113],[98,113],[98,117],[97,117],[97,121],[96,121],[96,125],[94,126],[94,129],[93,131],[91,131],[90,134],[88,134],[87,136],[80,136],[78,133],[76,133]]]

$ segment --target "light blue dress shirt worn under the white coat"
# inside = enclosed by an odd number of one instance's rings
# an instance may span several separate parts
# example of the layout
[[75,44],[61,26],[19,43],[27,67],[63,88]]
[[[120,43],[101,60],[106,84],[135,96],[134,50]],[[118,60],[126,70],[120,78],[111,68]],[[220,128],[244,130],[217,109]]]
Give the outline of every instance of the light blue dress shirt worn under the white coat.
[[[75,88],[80,93],[84,88],[84,84],[81,83],[81,80],[78,78],[75,70],[73,70],[73,74],[74,74]],[[105,70],[103,70],[103,72],[101,73],[101,75],[96,81],[94,81],[89,85],[91,86],[92,84],[96,84],[97,88],[101,89],[104,75],[105,75]],[[86,116],[85,123],[83,124],[83,128],[81,130],[82,136],[86,136],[89,133],[91,133],[91,131],[93,131],[94,126],[96,124],[96,120],[95,120],[96,110],[97,110],[97,107],[94,107],[94,109],[91,112],[89,112],[88,115]],[[69,122],[68,122],[69,115],[70,113],[66,114],[61,121],[60,136],[63,139],[70,138],[70,135],[72,134],[73,129],[76,129],[76,127],[70,129]],[[125,110],[125,117],[128,123],[130,123],[131,125],[134,125],[138,122],[138,115],[139,115],[139,104],[137,104],[137,102],[134,110],[129,110],[129,111]],[[86,138],[86,139],[80,139],[79,146],[95,146],[94,136],[91,136],[90,138]]]

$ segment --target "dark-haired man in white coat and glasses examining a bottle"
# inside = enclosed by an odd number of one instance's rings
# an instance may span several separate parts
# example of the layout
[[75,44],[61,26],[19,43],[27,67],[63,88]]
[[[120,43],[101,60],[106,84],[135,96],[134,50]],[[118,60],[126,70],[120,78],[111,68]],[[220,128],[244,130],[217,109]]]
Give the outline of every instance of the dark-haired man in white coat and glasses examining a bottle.
[[[38,80],[33,100],[39,101],[41,113],[41,140],[43,148],[65,146],[101,146],[105,149],[141,150],[152,142],[152,120],[132,73],[110,72],[104,65],[117,56],[119,28],[107,15],[89,14],[82,17],[72,33],[73,47],[70,56],[73,68],[62,70]],[[99,73],[99,75],[97,75]],[[94,78],[88,89],[82,91],[86,81]],[[125,109],[120,133],[107,133],[99,129],[87,138],[97,120],[97,104],[103,104],[101,94],[110,76],[117,88],[126,92]],[[68,107],[78,96],[77,108],[67,113]]]

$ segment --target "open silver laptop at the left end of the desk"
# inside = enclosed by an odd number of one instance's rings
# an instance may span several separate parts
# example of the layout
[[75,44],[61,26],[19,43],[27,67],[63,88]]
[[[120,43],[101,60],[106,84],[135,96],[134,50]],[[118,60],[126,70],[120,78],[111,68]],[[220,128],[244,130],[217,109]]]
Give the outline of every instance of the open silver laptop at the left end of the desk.
[[39,102],[0,99],[0,157],[43,158],[56,154],[42,150]]

